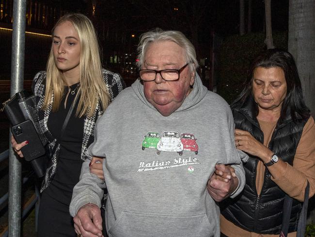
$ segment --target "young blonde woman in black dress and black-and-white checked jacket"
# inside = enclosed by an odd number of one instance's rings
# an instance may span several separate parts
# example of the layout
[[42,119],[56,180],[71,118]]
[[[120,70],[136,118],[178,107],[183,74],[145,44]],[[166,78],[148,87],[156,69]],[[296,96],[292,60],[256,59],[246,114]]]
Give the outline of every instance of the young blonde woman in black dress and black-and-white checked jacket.
[[[41,187],[38,236],[76,236],[69,204],[86,159],[84,152],[94,140],[96,119],[125,87],[118,74],[101,68],[89,18],[82,14],[61,17],[52,29],[47,70],[38,72],[32,85],[50,153]],[[20,157],[20,149],[27,144],[12,139]]]

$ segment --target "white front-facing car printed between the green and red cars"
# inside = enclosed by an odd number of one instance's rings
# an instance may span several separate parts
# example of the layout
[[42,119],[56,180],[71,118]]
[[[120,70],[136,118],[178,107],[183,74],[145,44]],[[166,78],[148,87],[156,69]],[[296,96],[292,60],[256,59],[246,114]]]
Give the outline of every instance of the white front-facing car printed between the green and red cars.
[[177,152],[183,154],[183,144],[179,133],[176,131],[163,131],[162,136],[157,143],[157,154],[160,152]]

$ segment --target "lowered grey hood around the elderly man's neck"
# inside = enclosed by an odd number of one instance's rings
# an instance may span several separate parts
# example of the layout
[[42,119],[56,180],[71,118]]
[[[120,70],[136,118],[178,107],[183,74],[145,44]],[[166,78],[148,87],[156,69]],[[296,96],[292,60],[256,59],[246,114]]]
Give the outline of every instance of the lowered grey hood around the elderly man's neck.
[[[142,103],[146,104],[148,107],[157,110],[150,102],[148,102],[144,96],[143,92],[143,85],[141,83],[140,79],[137,79],[132,85],[132,89],[134,90],[135,94],[139,97]],[[176,113],[177,111],[182,111],[185,109],[190,108],[191,106],[197,104],[202,99],[204,99],[208,89],[202,84],[201,78],[198,75],[198,73],[195,73],[195,82],[192,87],[192,90],[190,91],[189,95],[184,99],[184,102],[182,105],[175,110],[173,113]]]

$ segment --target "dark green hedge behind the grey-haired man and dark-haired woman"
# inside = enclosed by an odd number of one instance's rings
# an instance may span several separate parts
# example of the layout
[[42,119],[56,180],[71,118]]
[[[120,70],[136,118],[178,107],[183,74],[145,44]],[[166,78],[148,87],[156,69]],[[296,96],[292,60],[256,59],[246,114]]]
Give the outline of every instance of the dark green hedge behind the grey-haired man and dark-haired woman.
[[[218,94],[233,102],[244,88],[247,70],[252,60],[266,50],[265,34],[251,33],[227,37],[220,50]],[[274,32],[275,47],[287,49],[287,32]]]

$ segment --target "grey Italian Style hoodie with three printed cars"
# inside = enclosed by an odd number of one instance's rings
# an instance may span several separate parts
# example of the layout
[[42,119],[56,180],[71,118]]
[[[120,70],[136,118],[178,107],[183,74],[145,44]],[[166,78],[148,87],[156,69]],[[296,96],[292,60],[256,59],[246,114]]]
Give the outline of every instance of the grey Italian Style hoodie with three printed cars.
[[[110,104],[95,126],[88,156],[103,162],[110,237],[219,237],[220,210],[206,189],[217,163],[235,164],[244,186],[228,104],[196,75],[183,104],[168,117],[149,103],[138,80]],[[73,190],[70,214],[100,206],[105,184],[89,161]]]

